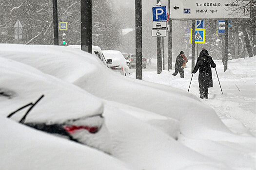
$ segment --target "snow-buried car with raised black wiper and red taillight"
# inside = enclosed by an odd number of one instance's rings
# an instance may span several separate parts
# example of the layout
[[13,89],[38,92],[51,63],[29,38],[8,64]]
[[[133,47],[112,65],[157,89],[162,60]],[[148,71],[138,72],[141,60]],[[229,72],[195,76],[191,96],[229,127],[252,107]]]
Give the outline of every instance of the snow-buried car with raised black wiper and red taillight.
[[0,115],[111,153],[98,98],[10,59],[0,57],[0,68]]

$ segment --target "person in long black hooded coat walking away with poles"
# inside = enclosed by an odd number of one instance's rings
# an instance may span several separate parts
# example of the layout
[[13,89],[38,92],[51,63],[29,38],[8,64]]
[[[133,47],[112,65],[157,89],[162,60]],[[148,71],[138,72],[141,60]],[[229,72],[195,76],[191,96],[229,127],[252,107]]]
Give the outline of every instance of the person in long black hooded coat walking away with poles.
[[209,55],[208,51],[205,48],[202,48],[202,51],[197,58],[197,64],[192,71],[192,73],[195,74],[199,69],[198,83],[201,99],[208,99],[208,88],[213,87],[211,67],[216,68],[216,64]]

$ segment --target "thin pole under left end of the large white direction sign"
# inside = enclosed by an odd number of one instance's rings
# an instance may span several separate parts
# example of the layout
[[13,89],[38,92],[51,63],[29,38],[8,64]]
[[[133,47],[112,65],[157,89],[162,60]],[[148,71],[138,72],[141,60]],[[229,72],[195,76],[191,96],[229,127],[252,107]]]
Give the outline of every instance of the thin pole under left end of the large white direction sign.
[[[171,15],[170,0],[168,0],[169,15]],[[169,18],[168,24],[170,31],[168,33],[168,71],[172,69],[173,62],[173,21]]]

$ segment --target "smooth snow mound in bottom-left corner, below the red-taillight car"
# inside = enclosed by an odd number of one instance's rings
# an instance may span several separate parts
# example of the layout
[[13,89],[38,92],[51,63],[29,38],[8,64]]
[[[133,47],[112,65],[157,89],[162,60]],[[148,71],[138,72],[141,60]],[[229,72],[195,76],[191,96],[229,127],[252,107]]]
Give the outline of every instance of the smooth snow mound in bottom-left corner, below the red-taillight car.
[[1,170],[129,170],[109,154],[1,115],[0,125]]

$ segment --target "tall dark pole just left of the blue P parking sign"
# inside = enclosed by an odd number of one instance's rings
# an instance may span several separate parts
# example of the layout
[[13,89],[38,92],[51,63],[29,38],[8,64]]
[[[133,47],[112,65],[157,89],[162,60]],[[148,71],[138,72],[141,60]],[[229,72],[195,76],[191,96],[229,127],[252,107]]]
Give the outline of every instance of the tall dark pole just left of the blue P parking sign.
[[136,79],[142,80],[142,0],[135,0]]

